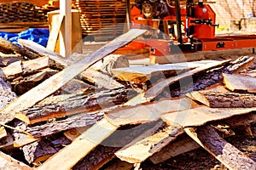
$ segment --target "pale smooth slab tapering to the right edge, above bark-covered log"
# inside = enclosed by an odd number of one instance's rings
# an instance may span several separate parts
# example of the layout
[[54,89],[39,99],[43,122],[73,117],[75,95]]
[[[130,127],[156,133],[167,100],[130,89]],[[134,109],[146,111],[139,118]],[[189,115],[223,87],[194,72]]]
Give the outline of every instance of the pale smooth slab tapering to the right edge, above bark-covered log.
[[187,111],[177,111],[161,116],[167,123],[177,123],[182,127],[201,126],[207,122],[222,120],[231,116],[247,114],[256,108],[209,108],[197,107]]

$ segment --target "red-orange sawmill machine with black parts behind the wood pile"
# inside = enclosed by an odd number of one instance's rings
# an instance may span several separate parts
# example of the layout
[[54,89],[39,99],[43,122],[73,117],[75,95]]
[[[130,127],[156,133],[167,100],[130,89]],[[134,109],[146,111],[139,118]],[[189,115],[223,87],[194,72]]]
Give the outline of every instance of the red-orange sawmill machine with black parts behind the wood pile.
[[[133,27],[148,26],[150,30],[160,26],[168,36],[158,32],[149,38],[131,42],[126,48],[150,47],[151,54],[166,55],[177,52],[177,46],[183,52],[256,47],[254,35],[215,37],[215,27],[218,26],[215,20],[216,14],[202,0],[196,4],[187,0],[182,7],[179,0],[136,0],[136,5],[131,8]],[[173,26],[177,26],[177,33],[174,39],[170,39]]]

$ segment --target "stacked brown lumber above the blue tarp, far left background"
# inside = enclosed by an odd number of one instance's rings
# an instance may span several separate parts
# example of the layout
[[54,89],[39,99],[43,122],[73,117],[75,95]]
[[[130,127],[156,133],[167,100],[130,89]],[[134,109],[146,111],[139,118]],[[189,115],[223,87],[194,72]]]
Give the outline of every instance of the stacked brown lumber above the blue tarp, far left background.
[[27,1],[2,2],[0,3],[0,31],[20,32],[29,27],[48,28],[47,13],[54,9],[36,6],[34,2]]

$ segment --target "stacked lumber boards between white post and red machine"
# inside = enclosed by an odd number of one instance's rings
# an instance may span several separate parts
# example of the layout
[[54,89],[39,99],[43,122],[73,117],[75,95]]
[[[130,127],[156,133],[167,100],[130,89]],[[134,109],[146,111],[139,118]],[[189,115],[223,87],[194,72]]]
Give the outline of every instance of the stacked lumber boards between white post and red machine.
[[125,23],[124,0],[73,0],[79,10],[84,35],[117,37]]

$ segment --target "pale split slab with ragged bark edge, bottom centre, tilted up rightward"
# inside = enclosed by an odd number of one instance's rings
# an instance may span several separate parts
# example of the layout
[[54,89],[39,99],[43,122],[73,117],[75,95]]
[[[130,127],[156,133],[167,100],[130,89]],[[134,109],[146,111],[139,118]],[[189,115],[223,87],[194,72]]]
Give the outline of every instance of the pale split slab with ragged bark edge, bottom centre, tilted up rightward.
[[[180,127],[169,126],[154,133],[152,136],[144,137],[138,142],[131,142],[121,150],[115,153],[122,161],[129,163],[139,163],[145,161],[149,156],[161,150],[179,134],[183,133]],[[134,144],[135,143],[135,144]]]

